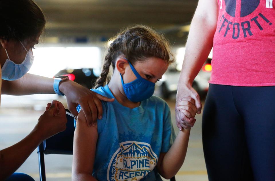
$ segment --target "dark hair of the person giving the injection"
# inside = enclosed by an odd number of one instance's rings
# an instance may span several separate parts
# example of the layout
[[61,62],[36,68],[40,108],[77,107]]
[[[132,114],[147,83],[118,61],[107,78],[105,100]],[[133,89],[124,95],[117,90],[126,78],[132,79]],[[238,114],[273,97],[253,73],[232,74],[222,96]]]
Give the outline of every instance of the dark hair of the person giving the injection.
[[34,40],[45,29],[46,18],[32,0],[0,0],[0,38]]

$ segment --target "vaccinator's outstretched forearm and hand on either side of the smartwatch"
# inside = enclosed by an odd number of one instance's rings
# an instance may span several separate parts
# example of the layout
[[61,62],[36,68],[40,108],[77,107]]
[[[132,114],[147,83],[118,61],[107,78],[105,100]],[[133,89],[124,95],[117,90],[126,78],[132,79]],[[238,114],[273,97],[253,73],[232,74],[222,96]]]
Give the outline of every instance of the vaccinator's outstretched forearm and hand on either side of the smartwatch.
[[[42,77],[39,75],[25,74],[15,81],[2,81],[2,94],[9,95],[29,95],[29,94],[53,94],[54,79]],[[82,107],[87,124],[95,124],[97,118],[102,118],[101,100],[113,101],[100,94],[79,85],[74,81],[62,81],[60,83],[60,91],[67,98],[68,109],[74,115],[78,115],[76,106],[80,104]]]

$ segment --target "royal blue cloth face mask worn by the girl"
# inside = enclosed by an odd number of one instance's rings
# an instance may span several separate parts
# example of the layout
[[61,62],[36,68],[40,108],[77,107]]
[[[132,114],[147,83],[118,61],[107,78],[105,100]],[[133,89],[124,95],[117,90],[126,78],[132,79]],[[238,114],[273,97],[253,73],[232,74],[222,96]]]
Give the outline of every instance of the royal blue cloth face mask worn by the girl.
[[[127,59],[125,59],[127,60]],[[128,61],[133,73],[137,77],[134,81],[124,84],[122,75],[121,77],[121,83],[124,90],[125,95],[129,100],[132,102],[140,102],[143,100],[146,100],[150,98],[155,91],[155,83],[152,83],[146,79],[143,79],[139,73],[135,70],[133,65]]]

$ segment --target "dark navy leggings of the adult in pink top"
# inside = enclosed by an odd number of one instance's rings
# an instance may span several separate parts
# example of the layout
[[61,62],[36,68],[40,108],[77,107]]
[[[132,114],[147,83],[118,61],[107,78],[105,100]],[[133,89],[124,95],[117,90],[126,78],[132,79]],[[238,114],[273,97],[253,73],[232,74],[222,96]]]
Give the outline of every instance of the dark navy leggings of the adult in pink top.
[[275,86],[210,84],[202,135],[209,181],[275,181]]

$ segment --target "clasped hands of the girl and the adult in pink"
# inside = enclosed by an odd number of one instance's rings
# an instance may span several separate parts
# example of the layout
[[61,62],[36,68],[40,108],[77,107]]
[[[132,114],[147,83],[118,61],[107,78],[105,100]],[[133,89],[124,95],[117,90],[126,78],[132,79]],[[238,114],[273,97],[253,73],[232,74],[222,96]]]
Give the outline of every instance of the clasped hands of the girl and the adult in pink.
[[[185,105],[186,104],[186,105]],[[191,105],[193,104],[193,106]],[[186,106],[188,106],[188,109]],[[192,85],[185,84],[178,86],[176,97],[176,124],[180,130],[182,128],[193,127],[196,119],[195,112],[201,113],[201,100],[199,94],[192,88]]]

